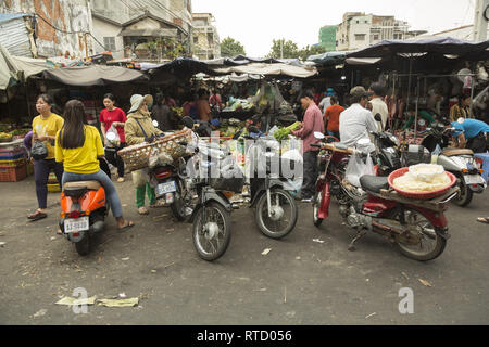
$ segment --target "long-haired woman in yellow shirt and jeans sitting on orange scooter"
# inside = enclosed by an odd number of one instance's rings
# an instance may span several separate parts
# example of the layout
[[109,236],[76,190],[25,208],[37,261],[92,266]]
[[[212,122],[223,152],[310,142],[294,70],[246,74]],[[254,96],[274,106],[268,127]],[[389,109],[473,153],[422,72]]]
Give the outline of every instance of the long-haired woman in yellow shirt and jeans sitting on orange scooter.
[[64,110],[64,125],[57,134],[55,159],[63,163],[62,183],[73,181],[99,181],[105,190],[112,214],[120,231],[134,226],[123,218],[121,201],[115,185],[100,169],[99,157],[103,157],[99,130],[86,125],[85,107],[78,100],[71,100]]

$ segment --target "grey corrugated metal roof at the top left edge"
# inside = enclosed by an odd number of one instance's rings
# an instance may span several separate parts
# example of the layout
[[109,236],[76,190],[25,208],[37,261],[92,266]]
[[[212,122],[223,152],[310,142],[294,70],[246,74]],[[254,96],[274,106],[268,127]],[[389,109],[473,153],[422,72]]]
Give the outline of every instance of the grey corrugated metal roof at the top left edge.
[[[29,36],[23,18],[26,15],[24,13],[16,14],[16,16],[10,15],[10,20],[0,21],[0,43],[12,55],[33,57]],[[2,17],[4,16],[7,15],[2,15]]]

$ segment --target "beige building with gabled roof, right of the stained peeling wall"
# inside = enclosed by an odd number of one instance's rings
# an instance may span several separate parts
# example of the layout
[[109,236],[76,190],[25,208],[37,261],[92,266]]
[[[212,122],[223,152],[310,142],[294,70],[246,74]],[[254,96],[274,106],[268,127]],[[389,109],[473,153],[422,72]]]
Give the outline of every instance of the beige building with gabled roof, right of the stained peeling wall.
[[91,0],[91,5],[96,53],[145,61],[172,59],[167,55],[177,50],[190,54],[190,0]]

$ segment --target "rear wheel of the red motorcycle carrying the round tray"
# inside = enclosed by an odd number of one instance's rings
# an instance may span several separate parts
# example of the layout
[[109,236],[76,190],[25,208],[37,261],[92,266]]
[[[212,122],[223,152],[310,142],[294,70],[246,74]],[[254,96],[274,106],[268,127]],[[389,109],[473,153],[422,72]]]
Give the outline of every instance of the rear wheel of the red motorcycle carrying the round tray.
[[447,240],[438,235],[435,226],[421,213],[405,211],[409,233],[396,239],[399,250],[408,258],[429,261],[438,258],[447,246]]

